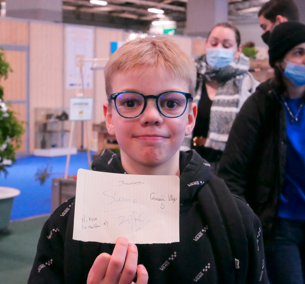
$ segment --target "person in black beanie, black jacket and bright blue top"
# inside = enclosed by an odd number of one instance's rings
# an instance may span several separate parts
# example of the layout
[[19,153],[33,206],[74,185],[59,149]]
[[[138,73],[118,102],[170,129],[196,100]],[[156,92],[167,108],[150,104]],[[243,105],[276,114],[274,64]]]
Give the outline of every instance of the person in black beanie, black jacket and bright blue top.
[[274,78],[239,112],[218,176],[260,218],[270,283],[304,283],[305,25],[284,22],[269,40]]

